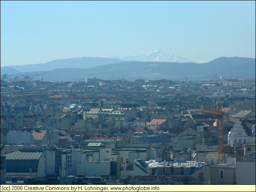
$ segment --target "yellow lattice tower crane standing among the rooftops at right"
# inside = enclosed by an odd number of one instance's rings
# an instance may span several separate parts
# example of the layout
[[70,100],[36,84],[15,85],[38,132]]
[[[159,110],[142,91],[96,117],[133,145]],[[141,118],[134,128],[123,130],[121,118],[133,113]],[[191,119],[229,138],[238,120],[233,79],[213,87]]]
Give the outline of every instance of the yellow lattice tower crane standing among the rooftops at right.
[[[215,117],[217,117],[218,122],[218,162],[223,163],[224,160],[224,151],[223,151],[223,111],[221,110],[220,106],[220,100],[218,110],[211,110],[211,109],[198,109],[198,112],[201,113],[208,113],[213,114]],[[216,105],[216,103],[214,104]]]

